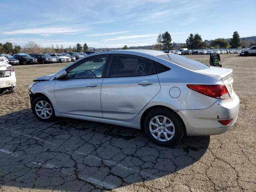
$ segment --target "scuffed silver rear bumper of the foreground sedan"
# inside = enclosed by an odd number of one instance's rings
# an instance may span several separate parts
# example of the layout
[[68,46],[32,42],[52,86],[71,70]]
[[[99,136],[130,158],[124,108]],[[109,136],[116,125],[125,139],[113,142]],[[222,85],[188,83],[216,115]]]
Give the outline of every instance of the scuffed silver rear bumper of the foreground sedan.
[[[234,94],[233,100],[218,100],[207,109],[179,110],[178,114],[184,121],[187,135],[217,135],[230,129],[236,122],[239,112],[239,98]],[[219,120],[233,119],[228,125]]]

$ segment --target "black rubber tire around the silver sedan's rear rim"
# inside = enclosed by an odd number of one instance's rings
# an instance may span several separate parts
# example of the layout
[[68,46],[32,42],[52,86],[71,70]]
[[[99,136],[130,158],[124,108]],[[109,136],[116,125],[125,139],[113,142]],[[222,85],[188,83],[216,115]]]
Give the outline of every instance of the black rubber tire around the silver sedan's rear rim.
[[[156,116],[165,116],[172,121],[175,128],[175,132],[174,132],[174,136],[170,140],[159,141],[156,138],[154,138],[154,136],[152,136],[152,134],[150,133],[150,128],[149,128],[150,120],[152,120],[152,118]],[[147,114],[144,120],[144,131],[152,142],[160,146],[169,147],[169,146],[174,146],[182,139],[184,135],[184,126],[183,126],[182,120],[180,120],[178,115],[172,110],[168,110],[166,108],[156,108]]]

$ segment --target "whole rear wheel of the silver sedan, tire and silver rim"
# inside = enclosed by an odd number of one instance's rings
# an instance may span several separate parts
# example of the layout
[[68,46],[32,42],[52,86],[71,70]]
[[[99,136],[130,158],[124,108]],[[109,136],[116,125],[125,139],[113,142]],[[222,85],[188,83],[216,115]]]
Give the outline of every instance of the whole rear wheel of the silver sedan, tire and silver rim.
[[148,138],[160,146],[173,146],[184,135],[182,121],[175,112],[166,108],[150,111],[144,120],[144,130]]

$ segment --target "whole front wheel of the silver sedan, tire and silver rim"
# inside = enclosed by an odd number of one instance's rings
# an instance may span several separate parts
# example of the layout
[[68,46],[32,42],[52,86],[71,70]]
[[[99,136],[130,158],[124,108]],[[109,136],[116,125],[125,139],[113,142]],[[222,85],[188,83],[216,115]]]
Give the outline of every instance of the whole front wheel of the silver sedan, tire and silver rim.
[[32,111],[40,121],[50,122],[55,118],[52,103],[45,96],[36,97],[31,104]]

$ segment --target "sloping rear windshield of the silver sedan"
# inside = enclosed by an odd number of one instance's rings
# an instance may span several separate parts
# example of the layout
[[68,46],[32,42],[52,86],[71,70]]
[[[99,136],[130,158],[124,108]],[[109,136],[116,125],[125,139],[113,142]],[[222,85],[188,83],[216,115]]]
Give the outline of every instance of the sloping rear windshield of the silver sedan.
[[157,57],[160,57],[164,60],[173,62],[177,65],[180,65],[180,66],[190,69],[190,70],[202,70],[202,69],[209,68],[208,65],[202,64],[202,63],[194,61],[192,59],[188,59],[183,56],[178,56],[176,54],[165,54],[165,55],[159,55]]

